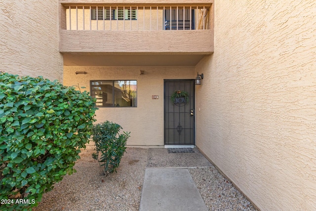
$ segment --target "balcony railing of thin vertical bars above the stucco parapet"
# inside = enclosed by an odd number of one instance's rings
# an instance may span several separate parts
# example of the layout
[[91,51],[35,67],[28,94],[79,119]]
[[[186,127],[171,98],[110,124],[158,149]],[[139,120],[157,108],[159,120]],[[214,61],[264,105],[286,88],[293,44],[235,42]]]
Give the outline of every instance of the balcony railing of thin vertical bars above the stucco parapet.
[[67,6],[67,30],[209,30],[210,6]]

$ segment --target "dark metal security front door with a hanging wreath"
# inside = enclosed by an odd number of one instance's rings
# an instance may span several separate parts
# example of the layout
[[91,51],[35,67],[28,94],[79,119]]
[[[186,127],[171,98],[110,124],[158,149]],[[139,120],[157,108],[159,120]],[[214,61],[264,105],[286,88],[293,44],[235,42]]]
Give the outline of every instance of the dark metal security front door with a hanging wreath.
[[[195,89],[194,80],[164,80],[164,144],[195,144]],[[174,91],[189,93],[189,102],[182,99],[172,104]]]

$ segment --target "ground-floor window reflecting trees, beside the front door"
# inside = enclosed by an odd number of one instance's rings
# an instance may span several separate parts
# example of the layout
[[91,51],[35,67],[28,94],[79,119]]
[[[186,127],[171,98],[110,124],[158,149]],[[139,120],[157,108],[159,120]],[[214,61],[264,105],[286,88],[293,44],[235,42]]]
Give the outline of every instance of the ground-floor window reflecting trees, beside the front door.
[[91,81],[97,107],[137,107],[137,81]]

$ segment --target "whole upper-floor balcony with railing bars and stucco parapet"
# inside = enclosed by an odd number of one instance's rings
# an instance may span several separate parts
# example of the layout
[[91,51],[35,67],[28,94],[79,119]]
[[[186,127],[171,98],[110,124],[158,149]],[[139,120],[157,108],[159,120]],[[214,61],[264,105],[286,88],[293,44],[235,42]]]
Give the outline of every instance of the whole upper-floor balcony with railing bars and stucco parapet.
[[163,55],[183,55],[199,60],[213,52],[213,7],[75,5],[60,0],[59,34],[63,54],[159,55],[162,60]]

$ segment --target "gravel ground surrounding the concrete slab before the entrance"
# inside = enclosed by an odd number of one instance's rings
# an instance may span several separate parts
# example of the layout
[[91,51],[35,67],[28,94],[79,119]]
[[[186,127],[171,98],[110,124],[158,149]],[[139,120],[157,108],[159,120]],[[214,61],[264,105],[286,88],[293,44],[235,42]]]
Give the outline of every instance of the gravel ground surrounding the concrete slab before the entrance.
[[93,159],[93,146],[80,153],[76,173],[43,195],[33,211],[138,211],[146,168],[188,168],[209,211],[256,211],[251,203],[195,148],[127,148],[117,173],[105,176]]

